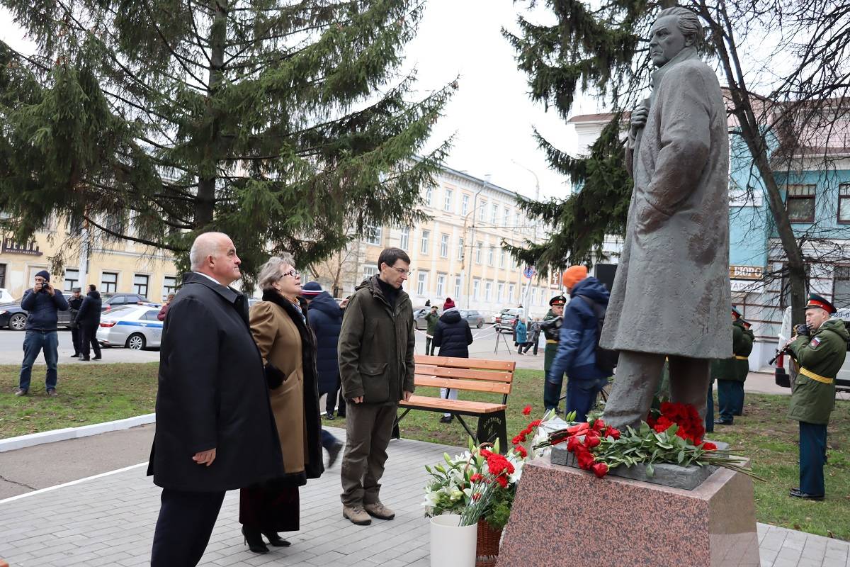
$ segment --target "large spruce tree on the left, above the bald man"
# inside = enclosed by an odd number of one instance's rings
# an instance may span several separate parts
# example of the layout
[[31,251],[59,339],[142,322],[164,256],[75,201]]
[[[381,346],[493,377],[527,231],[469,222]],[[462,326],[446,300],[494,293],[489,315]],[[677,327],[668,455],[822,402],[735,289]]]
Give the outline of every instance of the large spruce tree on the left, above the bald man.
[[[198,231],[310,264],[415,222],[447,144],[417,158],[454,85],[411,99],[423,0],[2,0],[0,209],[51,214],[185,262]],[[354,232],[350,227],[354,226]]]

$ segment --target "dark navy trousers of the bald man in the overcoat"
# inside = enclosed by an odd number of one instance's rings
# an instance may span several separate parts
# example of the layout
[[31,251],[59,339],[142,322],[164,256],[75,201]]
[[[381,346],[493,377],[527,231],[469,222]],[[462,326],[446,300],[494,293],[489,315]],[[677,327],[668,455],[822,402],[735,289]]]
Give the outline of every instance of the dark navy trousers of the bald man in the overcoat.
[[224,490],[184,492],[162,489],[162,506],[156,520],[150,566],[195,567],[207,549],[223,501]]

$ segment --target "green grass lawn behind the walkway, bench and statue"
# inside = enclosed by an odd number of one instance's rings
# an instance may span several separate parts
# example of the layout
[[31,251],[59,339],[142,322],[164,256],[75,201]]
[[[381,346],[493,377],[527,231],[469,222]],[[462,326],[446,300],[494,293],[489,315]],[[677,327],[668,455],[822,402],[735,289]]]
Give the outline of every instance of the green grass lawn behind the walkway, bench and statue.
[[[0,391],[0,438],[150,413],[156,400],[156,367],[155,362],[59,366],[59,397],[48,398],[41,366],[33,372],[30,395],[16,398],[12,392],[19,368],[0,366],[0,376],[8,386]],[[417,394],[434,393],[434,388],[417,390]],[[540,417],[542,393],[542,371],[516,372],[508,400],[509,438],[530,421],[522,415],[525,405],[534,407],[531,417]],[[466,400],[499,399],[467,392],[461,396]],[[842,437],[850,434],[850,402],[836,402],[830,422],[826,500],[805,502],[787,496],[788,489],[798,484],[797,422],[786,417],[789,400],[788,396],[747,394],[745,415],[736,417],[732,427],[717,426],[711,439],[726,441],[740,454],[750,456],[753,469],[767,479],[754,483],[758,521],[850,540],[850,444]],[[439,417],[430,411],[411,411],[401,423],[402,436],[466,446],[461,425],[440,423]],[[469,420],[470,427],[475,427],[474,422],[474,418]],[[344,426],[342,420],[326,423]]]

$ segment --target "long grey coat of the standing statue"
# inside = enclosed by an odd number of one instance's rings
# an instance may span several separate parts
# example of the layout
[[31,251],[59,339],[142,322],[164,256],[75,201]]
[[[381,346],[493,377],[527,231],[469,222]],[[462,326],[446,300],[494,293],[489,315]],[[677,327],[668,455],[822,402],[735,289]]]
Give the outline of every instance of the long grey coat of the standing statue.
[[601,343],[693,358],[732,355],[728,132],[717,77],[685,48],[655,71],[632,150],[626,240]]

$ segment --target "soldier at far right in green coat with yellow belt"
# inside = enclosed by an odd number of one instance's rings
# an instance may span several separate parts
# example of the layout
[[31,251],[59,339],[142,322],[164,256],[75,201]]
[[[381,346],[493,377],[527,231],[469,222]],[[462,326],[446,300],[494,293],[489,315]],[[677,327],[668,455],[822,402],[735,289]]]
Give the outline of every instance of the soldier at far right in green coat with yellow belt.
[[790,496],[823,500],[826,425],[836,405],[836,375],[847,355],[850,334],[836,308],[825,298],[809,294],[806,325],[785,345],[800,370],[791,388],[791,418],[800,422],[800,487]]

